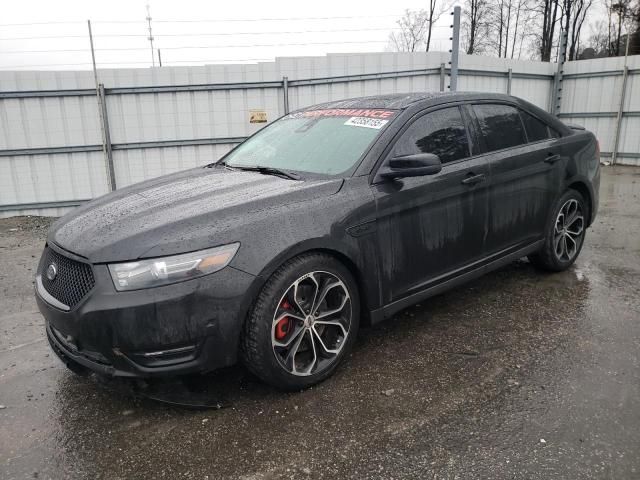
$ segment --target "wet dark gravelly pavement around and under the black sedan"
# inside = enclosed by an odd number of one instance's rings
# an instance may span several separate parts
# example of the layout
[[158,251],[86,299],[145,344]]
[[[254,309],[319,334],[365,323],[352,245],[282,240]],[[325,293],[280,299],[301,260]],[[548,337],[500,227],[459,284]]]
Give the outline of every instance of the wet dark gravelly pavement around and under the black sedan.
[[638,169],[603,170],[569,271],[519,261],[413,307],[301,393],[190,381],[221,409],[63,367],[32,295],[47,224],[0,220],[0,478],[640,478]]

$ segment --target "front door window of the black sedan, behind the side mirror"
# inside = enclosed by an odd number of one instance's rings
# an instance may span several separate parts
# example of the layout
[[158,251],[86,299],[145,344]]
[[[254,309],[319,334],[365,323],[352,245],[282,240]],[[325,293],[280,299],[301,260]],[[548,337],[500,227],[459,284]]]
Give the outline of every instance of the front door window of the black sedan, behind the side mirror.
[[444,108],[418,118],[396,143],[394,155],[433,153],[442,163],[469,156],[467,131],[458,107]]

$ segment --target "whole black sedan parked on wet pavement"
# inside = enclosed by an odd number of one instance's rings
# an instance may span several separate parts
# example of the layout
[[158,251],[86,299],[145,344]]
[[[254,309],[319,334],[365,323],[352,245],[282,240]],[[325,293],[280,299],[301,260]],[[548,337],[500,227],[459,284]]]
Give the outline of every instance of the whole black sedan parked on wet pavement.
[[515,97],[317,105],[215,163],[58,220],[36,298],[73,370],[146,377],[241,360],[304,388],[334,372],[361,325],[523,256],[568,268],[599,168],[593,134]]

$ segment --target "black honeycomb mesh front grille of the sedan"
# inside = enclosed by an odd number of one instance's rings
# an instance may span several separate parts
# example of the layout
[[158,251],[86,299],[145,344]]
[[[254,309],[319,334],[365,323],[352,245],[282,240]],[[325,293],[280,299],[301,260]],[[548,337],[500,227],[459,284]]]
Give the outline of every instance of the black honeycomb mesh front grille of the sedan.
[[[47,277],[49,265],[56,266],[53,280]],[[38,266],[42,286],[53,298],[70,308],[75,307],[95,285],[93,270],[88,263],[78,262],[45,247]]]

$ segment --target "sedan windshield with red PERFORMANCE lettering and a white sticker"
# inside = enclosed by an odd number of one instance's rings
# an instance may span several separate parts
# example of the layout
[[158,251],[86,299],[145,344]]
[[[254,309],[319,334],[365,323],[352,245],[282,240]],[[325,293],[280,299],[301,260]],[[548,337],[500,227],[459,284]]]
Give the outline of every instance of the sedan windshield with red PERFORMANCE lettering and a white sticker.
[[325,109],[287,115],[224,158],[229,167],[268,167],[338,175],[355,166],[393,110]]

